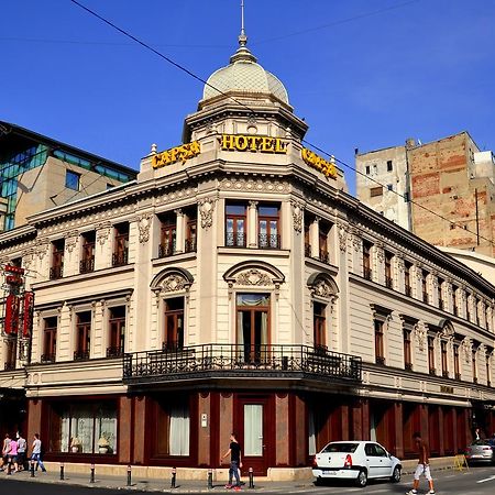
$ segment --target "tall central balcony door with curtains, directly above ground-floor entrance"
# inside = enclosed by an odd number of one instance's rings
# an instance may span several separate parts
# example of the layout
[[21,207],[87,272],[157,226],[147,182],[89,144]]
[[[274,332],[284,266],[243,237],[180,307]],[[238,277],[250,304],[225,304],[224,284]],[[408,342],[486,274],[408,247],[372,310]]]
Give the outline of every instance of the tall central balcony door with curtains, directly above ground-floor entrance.
[[270,359],[270,295],[238,294],[237,343],[245,363],[266,362]]

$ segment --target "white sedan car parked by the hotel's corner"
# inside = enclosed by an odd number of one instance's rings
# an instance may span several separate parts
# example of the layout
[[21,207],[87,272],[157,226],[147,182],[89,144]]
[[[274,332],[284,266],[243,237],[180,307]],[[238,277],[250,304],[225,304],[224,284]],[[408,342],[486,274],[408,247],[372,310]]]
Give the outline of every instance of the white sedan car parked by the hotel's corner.
[[363,487],[367,480],[377,477],[389,477],[398,483],[402,469],[397,458],[372,441],[330,442],[312,461],[317,484],[323,480],[352,480]]

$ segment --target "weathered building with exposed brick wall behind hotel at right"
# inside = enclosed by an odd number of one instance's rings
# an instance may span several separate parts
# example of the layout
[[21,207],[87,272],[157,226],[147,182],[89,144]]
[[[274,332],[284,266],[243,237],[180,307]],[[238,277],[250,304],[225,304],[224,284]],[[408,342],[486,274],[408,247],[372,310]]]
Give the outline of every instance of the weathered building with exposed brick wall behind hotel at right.
[[356,195],[429,243],[494,256],[495,158],[468,132],[355,155]]

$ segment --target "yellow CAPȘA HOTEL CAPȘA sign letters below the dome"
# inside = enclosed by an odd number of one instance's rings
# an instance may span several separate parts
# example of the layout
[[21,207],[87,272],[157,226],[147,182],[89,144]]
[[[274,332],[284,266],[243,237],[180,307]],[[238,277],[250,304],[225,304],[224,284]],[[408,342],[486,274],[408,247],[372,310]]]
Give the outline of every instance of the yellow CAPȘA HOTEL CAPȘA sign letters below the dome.
[[[286,154],[288,141],[282,138],[270,138],[267,135],[222,134],[219,138],[220,146],[224,151],[251,151],[261,153]],[[186,163],[201,153],[198,141],[170,147],[153,156],[153,168],[172,165],[176,162]],[[302,161],[312,168],[324,174],[327,177],[337,177],[336,164],[323,160],[311,150],[301,150]]]

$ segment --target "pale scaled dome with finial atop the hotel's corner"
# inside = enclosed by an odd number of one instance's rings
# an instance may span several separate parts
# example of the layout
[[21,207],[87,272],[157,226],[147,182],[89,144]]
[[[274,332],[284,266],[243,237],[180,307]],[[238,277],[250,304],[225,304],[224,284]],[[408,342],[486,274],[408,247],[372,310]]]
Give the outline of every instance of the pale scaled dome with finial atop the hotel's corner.
[[282,81],[256,63],[248,50],[248,37],[239,36],[239,50],[230,57],[230,64],[216,70],[207,80],[202,99],[229,91],[271,94],[288,105],[288,95]]

